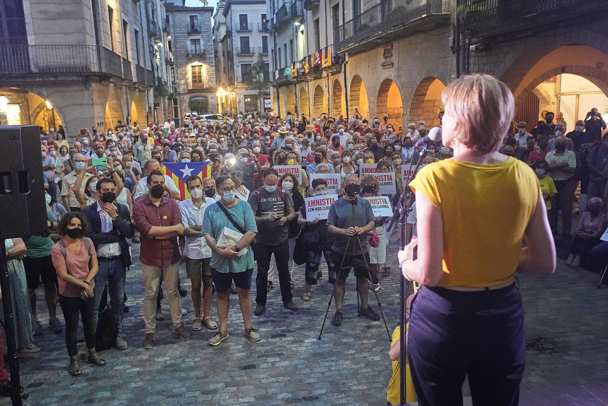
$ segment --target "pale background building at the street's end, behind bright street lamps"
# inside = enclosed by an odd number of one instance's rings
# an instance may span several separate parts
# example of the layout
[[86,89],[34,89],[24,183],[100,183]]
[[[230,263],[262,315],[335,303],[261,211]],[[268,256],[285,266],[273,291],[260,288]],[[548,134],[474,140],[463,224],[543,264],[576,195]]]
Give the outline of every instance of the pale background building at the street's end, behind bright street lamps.
[[[266,89],[262,99],[252,81],[252,68],[262,64],[263,81],[269,83],[269,23],[264,0],[227,0],[218,3],[213,18],[216,35],[215,52],[222,59],[221,79],[218,81],[218,111],[237,116],[245,111],[260,111],[269,107]],[[260,62],[261,60],[261,62]]]

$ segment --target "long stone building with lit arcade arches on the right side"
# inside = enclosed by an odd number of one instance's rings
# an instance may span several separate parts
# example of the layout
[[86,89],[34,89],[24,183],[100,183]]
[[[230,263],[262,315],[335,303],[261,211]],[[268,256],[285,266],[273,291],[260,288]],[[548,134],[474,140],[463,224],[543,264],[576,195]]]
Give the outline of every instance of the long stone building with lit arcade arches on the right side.
[[[441,91],[472,72],[503,80],[516,98],[514,118],[530,128],[543,110],[563,110],[572,128],[591,107],[608,108],[606,0],[465,0],[460,7],[451,0],[306,0],[303,17],[297,3],[282,1],[268,4],[277,38],[272,93],[282,116],[358,111],[367,119],[388,114],[399,125],[438,125]],[[571,26],[572,18],[586,23]]]

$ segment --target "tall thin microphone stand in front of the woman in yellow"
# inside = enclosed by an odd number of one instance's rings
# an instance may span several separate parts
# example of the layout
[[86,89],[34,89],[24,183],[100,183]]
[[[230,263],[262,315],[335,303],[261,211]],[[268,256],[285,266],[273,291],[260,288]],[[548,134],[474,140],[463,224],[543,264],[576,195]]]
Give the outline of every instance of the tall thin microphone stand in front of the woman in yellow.
[[[414,168],[414,172],[411,176],[408,176],[407,179],[402,179],[403,183],[403,193],[399,198],[397,205],[395,206],[395,211],[393,212],[393,217],[390,219],[387,224],[387,228],[391,229],[393,224],[397,219],[399,219],[399,225],[401,226],[401,237],[399,239],[399,250],[403,250],[406,247],[407,243],[409,243],[409,237],[407,233],[407,215],[412,211],[411,208],[406,208],[407,199],[412,194],[412,190],[409,189],[410,180],[415,177],[416,173],[418,173],[418,168],[424,157],[426,156],[426,145],[422,145],[418,147],[418,162],[416,163],[416,167]],[[412,170],[413,160],[410,161],[410,167],[408,172]],[[399,312],[399,405],[406,405],[406,363],[407,363],[407,354],[406,354],[406,290],[409,282],[403,276],[401,272],[401,267],[399,267],[399,301],[401,312]]]

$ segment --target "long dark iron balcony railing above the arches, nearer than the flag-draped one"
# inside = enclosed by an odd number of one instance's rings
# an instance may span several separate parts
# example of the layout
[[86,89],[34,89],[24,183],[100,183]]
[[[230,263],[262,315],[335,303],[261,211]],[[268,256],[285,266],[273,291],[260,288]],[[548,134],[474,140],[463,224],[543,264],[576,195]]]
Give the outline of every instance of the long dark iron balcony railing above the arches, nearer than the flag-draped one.
[[340,26],[336,49],[429,15],[449,16],[449,0],[384,0]]

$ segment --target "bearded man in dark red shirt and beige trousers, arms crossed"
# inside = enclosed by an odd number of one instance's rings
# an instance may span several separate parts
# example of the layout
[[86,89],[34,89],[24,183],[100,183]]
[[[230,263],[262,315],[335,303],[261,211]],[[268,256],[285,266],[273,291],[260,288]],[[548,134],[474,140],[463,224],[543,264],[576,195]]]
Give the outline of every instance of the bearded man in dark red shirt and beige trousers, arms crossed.
[[179,259],[178,236],[184,234],[184,224],[176,201],[163,197],[165,177],[155,170],[147,178],[148,195],[133,205],[133,219],[141,236],[139,260],[142,265],[143,285],[146,289],[143,298],[143,348],[154,345],[156,331],[156,296],[159,281],[165,281],[165,289],[171,311],[171,321],[176,334],[182,340],[190,340],[190,334],[182,324],[182,306],[178,292]]

